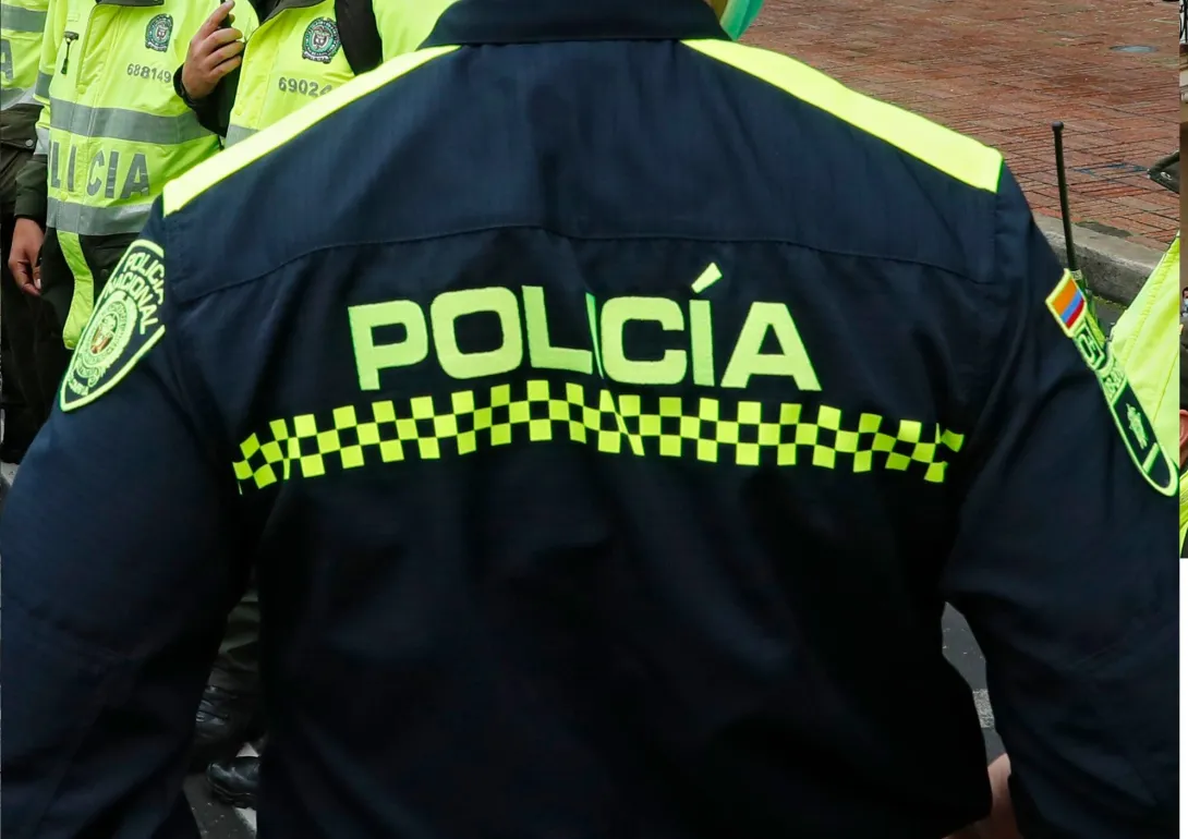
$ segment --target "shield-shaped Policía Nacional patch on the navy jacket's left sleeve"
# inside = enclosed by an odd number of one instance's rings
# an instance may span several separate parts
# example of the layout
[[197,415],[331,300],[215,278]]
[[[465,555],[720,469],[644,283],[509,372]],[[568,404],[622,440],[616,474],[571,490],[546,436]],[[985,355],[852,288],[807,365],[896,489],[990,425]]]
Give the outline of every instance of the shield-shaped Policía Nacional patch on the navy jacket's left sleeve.
[[72,411],[110,391],[165,334],[157,311],[165,299],[165,252],[132,242],[112,272],[83,329],[58,404]]

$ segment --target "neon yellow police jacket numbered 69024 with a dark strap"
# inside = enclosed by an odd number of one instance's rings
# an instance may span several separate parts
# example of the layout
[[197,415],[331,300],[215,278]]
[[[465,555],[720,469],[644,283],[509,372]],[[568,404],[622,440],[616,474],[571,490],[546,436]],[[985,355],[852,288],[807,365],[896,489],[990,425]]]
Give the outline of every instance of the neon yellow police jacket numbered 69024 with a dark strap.
[[[375,25],[384,59],[416,50],[450,2],[377,0]],[[244,52],[226,144],[239,143],[354,77],[342,50],[334,0],[273,12]]]

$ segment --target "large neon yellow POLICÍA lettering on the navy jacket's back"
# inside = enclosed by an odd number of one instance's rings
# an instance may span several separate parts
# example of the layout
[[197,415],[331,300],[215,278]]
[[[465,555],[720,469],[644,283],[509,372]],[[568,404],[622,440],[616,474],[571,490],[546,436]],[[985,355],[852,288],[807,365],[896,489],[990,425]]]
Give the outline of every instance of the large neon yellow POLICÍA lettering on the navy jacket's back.
[[[695,292],[716,282],[702,280],[695,285]],[[411,367],[426,360],[430,332],[436,361],[442,372],[454,379],[501,376],[518,370],[524,364],[526,346],[527,362],[533,370],[571,371],[620,384],[675,385],[691,378],[702,387],[744,390],[753,377],[763,376],[792,379],[802,391],[821,390],[792,314],[783,303],[750,305],[719,381],[713,315],[713,304],[707,299],[682,304],[668,297],[630,296],[599,302],[587,294],[588,345],[567,347],[554,342],[555,329],[550,326],[545,290],[537,285],[524,286],[520,295],[503,286],[447,291],[429,304],[428,317],[413,301],[369,303],[348,309],[359,386],[365,391],[380,390],[383,371]],[[474,349],[459,341],[460,332],[467,333],[459,323],[472,316],[495,317],[497,346]],[[628,354],[625,338],[633,323],[638,324],[634,328],[657,330],[666,336],[659,358]],[[773,343],[775,352],[763,352],[765,343]]]

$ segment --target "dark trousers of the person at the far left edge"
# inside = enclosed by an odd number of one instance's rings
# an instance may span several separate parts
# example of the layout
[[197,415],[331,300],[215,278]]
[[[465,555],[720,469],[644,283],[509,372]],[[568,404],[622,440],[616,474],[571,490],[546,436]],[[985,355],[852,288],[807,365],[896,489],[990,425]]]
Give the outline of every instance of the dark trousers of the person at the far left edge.
[[[13,204],[17,172],[30,153],[0,145],[0,334],[7,345],[0,355],[4,379],[7,442],[24,448],[44,424],[70,362],[62,332],[50,305],[17,288],[8,271],[8,253],[17,226]],[[6,446],[8,448],[8,446]]]

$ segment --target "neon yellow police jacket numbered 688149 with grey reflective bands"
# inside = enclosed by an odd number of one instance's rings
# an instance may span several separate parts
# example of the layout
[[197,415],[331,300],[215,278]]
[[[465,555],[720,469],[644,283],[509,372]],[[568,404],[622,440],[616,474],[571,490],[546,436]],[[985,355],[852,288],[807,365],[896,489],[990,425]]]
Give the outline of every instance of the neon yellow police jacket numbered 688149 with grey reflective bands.
[[[78,236],[135,234],[165,184],[219,151],[173,92],[173,71],[216,0],[50,0],[37,94],[45,107],[49,203],[75,289],[63,328],[74,347],[95,280]],[[235,25],[252,18],[249,4]]]

